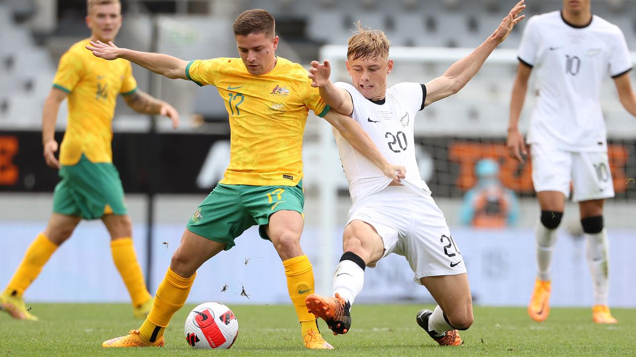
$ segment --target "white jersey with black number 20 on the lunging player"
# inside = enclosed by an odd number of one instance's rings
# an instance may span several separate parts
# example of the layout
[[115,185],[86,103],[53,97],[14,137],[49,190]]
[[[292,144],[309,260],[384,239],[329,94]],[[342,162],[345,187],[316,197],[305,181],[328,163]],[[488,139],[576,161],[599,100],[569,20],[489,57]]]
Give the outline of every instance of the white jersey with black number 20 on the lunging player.
[[[413,121],[415,114],[424,108],[426,87],[418,83],[399,83],[387,89],[384,100],[371,101],[349,83],[338,82],[336,86],[349,92],[354,105],[352,118],[368,133],[382,155],[389,163],[406,168],[404,185],[419,193],[430,194],[429,187],[420,177],[413,142]],[[351,147],[337,130],[333,130],[333,135],[349,180],[353,203],[391,183],[380,168]]]

